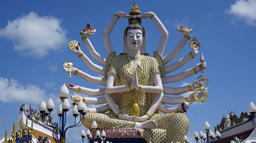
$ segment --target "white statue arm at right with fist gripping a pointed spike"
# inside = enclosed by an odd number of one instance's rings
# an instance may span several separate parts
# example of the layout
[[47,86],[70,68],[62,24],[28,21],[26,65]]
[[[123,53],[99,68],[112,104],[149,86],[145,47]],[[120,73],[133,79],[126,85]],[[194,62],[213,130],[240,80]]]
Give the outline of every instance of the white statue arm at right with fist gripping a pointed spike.
[[[206,68],[207,63],[203,62],[202,66],[203,66],[203,68]],[[191,69],[186,70],[182,73],[178,73],[177,75],[166,76],[166,77],[162,78],[162,83],[166,84],[166,83],[171,83],[171,82],[177,82],[177,81],[185,79],[189,76],[192,76],[195,73],[198,73],[199,71],[201,71],[201,63],[196,64],[194,69],[195,69],[196,72],[193,70],[193,68],[191,68]]]

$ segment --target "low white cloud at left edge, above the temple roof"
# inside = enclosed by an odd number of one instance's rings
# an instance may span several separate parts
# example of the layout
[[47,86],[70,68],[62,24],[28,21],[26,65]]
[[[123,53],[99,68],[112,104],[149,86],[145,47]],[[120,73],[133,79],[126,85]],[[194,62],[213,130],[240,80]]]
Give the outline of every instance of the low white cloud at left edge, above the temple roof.
[[39,104],[46,99],[46,93],[37,85],[23,86],[15,79],[0,77],[0,101]]

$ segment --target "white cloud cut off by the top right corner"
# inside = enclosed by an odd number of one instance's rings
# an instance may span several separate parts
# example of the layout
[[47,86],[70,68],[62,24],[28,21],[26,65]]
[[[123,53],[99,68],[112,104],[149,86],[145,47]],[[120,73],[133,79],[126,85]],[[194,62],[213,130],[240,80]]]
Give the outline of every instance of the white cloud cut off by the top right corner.
[[244,19],[247,25],[256,25],[256,0],[237,0],[227,13]]

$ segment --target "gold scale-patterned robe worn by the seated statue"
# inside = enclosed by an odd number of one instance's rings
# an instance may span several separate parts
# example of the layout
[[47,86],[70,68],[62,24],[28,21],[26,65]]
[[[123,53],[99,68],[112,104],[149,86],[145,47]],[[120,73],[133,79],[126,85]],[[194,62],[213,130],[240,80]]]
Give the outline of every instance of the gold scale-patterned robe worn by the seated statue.
[[[143,56],[140,60],[140,74],[138,80],[140,85],[153,85],[153,78],[156,73],[164,76],[163,60],[158,53],[154,56]],[[105,69],[105,78],[108,73],[112,72],[116,75],[116,86],[130,84],[132,75],[128,73],[130,62],[127,55],[116,56],[116,52],[108,56]],[[159,71],[160,69],[160,71]],[[132,102],[132,96],[136,94],[138,104],[140,105],[140,115],[145,115],[152,103],[152,93],[131,92],[117,93],[116,104],[124,114],[129,114],[129,106]],[[113,127],[119,129],[131,129],[135,127],[136,122],[120,120],[113,111],[109,113],[87,113],[85,115],[84,126],[91,129],[91,124],[95,120],[99,129],[111,129]],[[158,110],[147,121],[155,121],[157,129],[139,129],[141,136],[148,143],[170,143],[182,142],[183,136],[189,129],[189,120],[183,113],[167,113],[159,114]]]

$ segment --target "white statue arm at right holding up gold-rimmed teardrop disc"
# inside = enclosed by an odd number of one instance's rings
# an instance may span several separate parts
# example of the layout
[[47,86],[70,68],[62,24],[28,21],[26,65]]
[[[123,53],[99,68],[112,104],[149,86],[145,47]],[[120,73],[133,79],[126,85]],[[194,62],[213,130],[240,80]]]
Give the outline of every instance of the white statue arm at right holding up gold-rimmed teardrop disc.
[[198,54],[198,50],[195,50],[195,48],[191,48],[191,52],[178,60],[177,62],[174,62],[172,64],[169,64],[165,67],[165,73],[170,73],[174,70],[177,70],[178,68],[182,67],[184,64],[189,62],[190,59],[193,59]]

